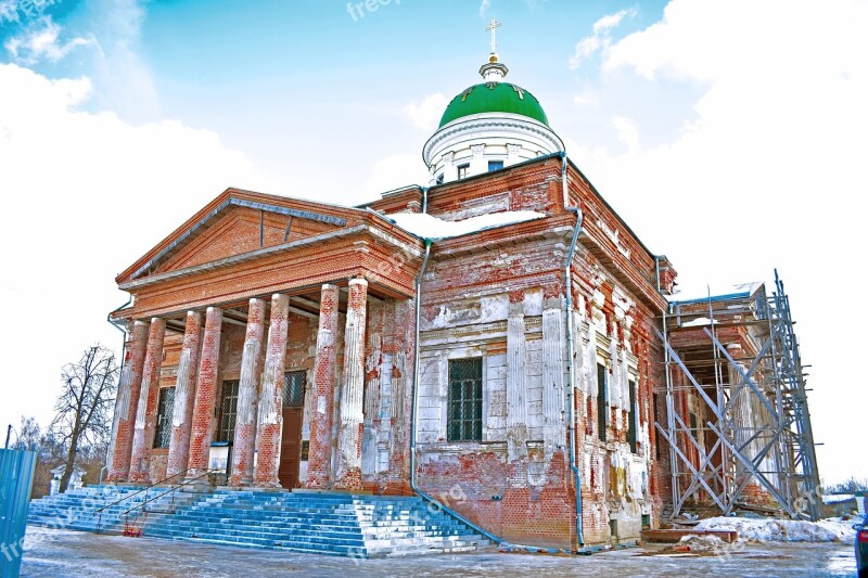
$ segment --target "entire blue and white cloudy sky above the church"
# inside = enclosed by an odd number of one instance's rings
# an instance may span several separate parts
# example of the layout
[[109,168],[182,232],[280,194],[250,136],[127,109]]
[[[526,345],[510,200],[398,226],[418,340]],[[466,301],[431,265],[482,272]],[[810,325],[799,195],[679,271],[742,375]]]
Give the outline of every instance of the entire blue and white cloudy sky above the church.
[[0,424],[47,424],[62,365],[119,351],[115,275],[228,187],[425,184],[493,17],[508,81],[685,294],[778,269],[820,475],[868,478],[864,0],[0,0]]

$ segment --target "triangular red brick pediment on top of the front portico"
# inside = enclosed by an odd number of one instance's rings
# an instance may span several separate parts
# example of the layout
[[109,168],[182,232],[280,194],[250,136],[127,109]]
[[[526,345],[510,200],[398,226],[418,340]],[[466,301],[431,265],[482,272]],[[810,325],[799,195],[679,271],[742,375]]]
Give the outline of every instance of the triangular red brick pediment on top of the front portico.
[[359,209],[228,190],[117,280],[133,281],[342,229]]

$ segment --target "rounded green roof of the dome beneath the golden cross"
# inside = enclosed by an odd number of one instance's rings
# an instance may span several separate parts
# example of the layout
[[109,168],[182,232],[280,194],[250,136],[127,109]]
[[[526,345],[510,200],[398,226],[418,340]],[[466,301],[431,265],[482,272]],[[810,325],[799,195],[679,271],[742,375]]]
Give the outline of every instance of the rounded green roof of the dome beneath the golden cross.
[[509,82],[475,85],[452,99],[441,118],[441,127],[480,113],[511,113],[527,116],[549,126],[549,119],[536,97]]

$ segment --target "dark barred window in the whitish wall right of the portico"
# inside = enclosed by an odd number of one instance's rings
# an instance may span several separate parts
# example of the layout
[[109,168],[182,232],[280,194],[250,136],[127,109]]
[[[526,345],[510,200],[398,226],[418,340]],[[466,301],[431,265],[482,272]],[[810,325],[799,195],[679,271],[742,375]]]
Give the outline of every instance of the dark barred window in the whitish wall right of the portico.
[[482,358],[449,361],[447,439],[482,441]]

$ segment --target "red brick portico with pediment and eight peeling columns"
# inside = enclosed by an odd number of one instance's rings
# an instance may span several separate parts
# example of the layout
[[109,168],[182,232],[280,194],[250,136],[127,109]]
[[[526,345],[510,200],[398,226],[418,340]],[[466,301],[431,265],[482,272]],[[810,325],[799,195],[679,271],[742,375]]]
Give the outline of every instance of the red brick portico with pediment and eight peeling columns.
[[369,210],[225,192],[118,277],[135,300],[113,313],[129,331],[108,480],[225,467],[239,487],[401,486],[403,472],[362,472],[365,440],[400,461],[385,438],[409,427],[366,413],[384,357],[368,345],[387,338],[390,368],[398,352],[407,365],[421,256]]

